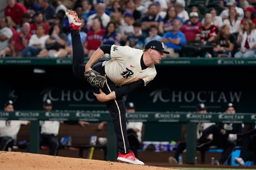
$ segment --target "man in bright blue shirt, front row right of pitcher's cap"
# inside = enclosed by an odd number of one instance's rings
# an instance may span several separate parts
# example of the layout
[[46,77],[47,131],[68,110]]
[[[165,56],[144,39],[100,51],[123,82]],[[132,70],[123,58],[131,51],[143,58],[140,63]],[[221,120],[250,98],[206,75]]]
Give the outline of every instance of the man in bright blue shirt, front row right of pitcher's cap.
[[186,43],[186,37],[184,33],[180,31],[182,23],[179,19],[174,19],[172,21],[173,31],[167,32],[162,38],[162,42],[167,48],[167,51],[170,52],[170,55],[166,57],[179,57],[179,52],[183,45]]

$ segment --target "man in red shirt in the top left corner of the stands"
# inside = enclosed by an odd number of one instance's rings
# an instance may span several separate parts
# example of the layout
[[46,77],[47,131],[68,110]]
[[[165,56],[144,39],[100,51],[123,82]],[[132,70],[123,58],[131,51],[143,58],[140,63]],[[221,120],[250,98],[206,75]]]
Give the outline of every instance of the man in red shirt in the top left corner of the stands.
[[4,16],[12,17],[16,25],[20,24],[22,16],[26,12],[27,9],[23,4],[15,2],[15,0],[7,0],[7,6],[4,8]]

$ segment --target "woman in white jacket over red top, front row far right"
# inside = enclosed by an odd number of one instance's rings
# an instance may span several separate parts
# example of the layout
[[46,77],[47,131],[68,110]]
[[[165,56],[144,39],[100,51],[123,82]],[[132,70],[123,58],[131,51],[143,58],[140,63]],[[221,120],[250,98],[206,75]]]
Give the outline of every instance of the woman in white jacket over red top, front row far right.
[[256,30],[251,19],[245,19],[243,22],[243,31],[239,32],[238,45],[241,49],[235,54],[236,58],[255,57]]

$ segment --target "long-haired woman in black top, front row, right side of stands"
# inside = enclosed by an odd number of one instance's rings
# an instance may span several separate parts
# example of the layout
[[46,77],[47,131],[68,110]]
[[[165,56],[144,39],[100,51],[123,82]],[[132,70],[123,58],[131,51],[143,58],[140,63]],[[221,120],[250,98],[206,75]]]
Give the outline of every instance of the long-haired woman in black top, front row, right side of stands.
[[229,24],[224,24],[216,37],[216,46],[213,48],[213,57],[220,57],[221,54],[230,56],[233,54],[236,38],[230,33]]

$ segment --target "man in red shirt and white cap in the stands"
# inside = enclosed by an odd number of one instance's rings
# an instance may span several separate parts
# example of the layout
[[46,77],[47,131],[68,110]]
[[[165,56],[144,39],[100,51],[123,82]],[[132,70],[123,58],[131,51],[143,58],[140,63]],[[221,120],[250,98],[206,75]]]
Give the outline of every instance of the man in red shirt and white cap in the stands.
[[189,20],[191,24],[184,25],[180,31],[185,34],[187,41],[192,41],[195,40],[198,29],[201,28],[202,23],[199,22],[199,16],[197,12],[190,12]]

